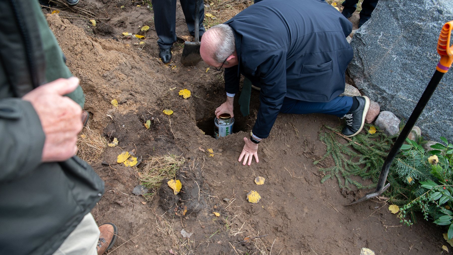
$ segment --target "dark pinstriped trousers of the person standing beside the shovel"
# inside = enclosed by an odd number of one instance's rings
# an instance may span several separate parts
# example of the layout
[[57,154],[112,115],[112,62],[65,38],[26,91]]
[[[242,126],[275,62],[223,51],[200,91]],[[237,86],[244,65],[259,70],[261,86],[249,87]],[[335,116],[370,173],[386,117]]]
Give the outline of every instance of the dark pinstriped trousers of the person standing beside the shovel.
[[[200,36],[204,33],[204,4],[200,1]],[[179,0],[190,34],[195,34],[195,0]],[[168,49],[176,42],[176,0],[152,0],[154,27],[156,28],[160,49]]]

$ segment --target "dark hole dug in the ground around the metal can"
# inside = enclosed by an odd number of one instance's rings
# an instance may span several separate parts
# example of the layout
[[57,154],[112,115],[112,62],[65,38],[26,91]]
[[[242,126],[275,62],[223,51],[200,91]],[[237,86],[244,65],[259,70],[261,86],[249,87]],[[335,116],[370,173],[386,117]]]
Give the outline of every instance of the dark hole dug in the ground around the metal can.
[[[212,88],[222,88],[222,86],[213,86]],[[205,132],[206,135],[214,137],[214,118],[216,117],[214,112],[218,106],[220,106],[223,102],[225,102],[226,95],[223,89],[216,91],[219,96],[216,97],[216,101],[212,101],[214,103],[209,103],[205,100],[198,99],[197,106],[197,127]],[[240,131],[250,132],[256,118],[256,112],[258,110],[258,106],[260,103],[259,100],[259,92],[252,89],[251,98],[250,98],[250,115],[243,116],[241,111],[239,110],[239,95],[241,92],[237,93],[234,97],[234,125],[233,125],[233,133],[237,133]],[[211,99],[212,100],[212,99]]]

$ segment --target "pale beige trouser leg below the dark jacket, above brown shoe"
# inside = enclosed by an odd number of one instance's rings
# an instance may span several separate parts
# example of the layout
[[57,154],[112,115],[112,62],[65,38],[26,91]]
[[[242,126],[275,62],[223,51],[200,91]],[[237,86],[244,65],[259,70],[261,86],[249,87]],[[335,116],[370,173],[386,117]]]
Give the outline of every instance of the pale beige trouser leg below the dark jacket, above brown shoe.
[[88,213],[53,255],[97,255],[99,235],[96,221]]

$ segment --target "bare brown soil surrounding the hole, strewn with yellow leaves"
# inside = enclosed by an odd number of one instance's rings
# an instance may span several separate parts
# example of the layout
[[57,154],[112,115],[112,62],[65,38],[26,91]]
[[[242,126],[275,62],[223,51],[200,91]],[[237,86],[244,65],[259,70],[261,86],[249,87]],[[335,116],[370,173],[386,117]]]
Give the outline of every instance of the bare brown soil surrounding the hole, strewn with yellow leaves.
[[[280,115],[270,137],[260,144],[260,163],[242,166],[237,158],[255,120],[258,92],[252,93],[251,116],[235,113],[236,133],[212,138],[214,110],[225,100],[222,75],[213,69],[206,72],[203,62],[181,66],[182,41],[174,45],[172,64],[162,64],[153,13],[146,5],[81,1],[79,6],[85,10],[111,18],[97,20],[96,28],[87,20],[48,15],[67,65],[86,93],[90,128],[109,142],[113,137],[119,140],[118,146],[106,147],[101,157],[92,159],[93,168],[106,182],[93,215],[98,223],[114,222],[119,228],[112,254],[358,255],[362,247],[380,255],[442,252],[445,242],[432,223],[401,226],[385,201],[343,206],[364,192],[342,191],[335,181],[320,183],[318,168],[333,162],[313,165],[325,152],[318,131],[323,124],[340,124],[336,117]],[[180,8],[177,20],[178,36],[189,38]],[[150,27],[145,44],[121,34],[145,35],[140,32],[142,25]],[[182,88],[192,96],[178,96]],[[118,108],[110,103],[114,98]],[[165,108],[172,109],[173,115],[165,115]],[[143,123],[148,119],[151,127],[146,129]],[[214,157],[200,148],[212,148]],[[183,193],[175,196],[164,184],[149,201],[133,195],[139,184],[134,167],[116,164],[120,152],[132,150],[144,160],[168,153],[182,155],[187,161],[176,177],[183,183]],[[266,178],[264,185],[254,183],[257,176]],[[246,200],[251,190],[260,193],[259,203]],[[178,208],[184,206],[186,216],[178,216]],[[193,235],[183,238],[182,229]],[[266,236],[241,242],[260,235]]]

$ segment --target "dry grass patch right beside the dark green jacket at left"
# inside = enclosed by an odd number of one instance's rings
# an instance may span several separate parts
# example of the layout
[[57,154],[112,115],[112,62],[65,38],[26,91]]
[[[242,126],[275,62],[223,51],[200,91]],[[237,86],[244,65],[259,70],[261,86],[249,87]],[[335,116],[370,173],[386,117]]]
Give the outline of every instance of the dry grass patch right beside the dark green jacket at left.
[[101,136],[101,132],[90,129],[89,124],[87,123],[77,137],[77,157],[91,163],[104,152],[107,139]]

